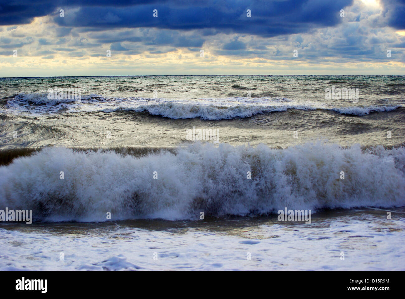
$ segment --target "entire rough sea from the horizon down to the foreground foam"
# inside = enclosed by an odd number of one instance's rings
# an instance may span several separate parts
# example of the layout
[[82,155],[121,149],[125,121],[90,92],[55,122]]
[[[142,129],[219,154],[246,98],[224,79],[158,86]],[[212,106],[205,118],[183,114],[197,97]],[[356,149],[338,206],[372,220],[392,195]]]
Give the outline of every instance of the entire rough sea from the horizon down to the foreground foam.
[[403,76],[0,78],[0,209],[34,221],[0,270],[404,270],[404,107]]

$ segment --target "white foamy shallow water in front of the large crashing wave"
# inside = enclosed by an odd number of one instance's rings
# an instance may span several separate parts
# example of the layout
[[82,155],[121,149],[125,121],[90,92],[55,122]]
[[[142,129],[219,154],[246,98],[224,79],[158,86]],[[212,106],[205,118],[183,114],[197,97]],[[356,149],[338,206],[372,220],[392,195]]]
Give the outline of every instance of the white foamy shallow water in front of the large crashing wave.
[[277,215],[6,224],[0,269],[404,270],[405,210],[390,209],[392,220],[387,211],[324,211],[311,224]]

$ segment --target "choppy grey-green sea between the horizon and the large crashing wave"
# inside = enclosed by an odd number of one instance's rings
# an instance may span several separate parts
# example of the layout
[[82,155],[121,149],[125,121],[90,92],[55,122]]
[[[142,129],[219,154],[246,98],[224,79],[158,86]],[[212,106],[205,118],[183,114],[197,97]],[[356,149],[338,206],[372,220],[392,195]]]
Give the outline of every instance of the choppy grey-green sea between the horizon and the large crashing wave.
[[[81,102],[49,100],[54,86],[80,88]],[[333,86],[358,88],[358,102],[326,100]],[[220,142],[232,145],[286,147],[319,138],[398,145],[404,90],[403,76],[3,78],[1,146],[177,146],[193,126],[216,128]]]

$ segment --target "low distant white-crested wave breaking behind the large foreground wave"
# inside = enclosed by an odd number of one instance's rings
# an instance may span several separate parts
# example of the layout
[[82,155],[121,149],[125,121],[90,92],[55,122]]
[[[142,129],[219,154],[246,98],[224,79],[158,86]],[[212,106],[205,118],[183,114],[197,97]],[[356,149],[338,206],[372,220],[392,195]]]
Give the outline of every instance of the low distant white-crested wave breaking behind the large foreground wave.
[[[314,104],[296,103],[293,100],[282,97],[229,97],[221,99],[201,99],[203,102],[191,100],[169,100],[160,98],[108,98],[98,94],[81,96],[81,103],[75,99],[49,100],[47,94],[41,93],[20,93],[13,97],[4,98],[11,103],[13,109],[28,113],[66,113],[66,112],[115,112],[133,111],[147,112],[151,115],[160,115],[172,119],[201,118],[203,120],[227,120],[233,118],[252,117],[257,114],[284,112],[290,109],[295,110],[324,110],[333,111],[343,115],[363,116],[373,112],[390,112],[402,106],[399,105],[371,105],[352,107],[327,107],[315,106]],[[208,102],[207,102],[208,101]],[[205,103],[204,103],[205,102]],[[240,102],[240,105],[235,102]],[[34,109],[26,105],[33,105]],[[103,103],[107,103],[103,105]],[[44,105],[45,104],[45,105]],[[64,109],[60,110],[60,104]],[[83,106],[83,104],[92,104]],[[59,105],[59,106],[58,106]],[[27,108],[28,107],[28,108]]]

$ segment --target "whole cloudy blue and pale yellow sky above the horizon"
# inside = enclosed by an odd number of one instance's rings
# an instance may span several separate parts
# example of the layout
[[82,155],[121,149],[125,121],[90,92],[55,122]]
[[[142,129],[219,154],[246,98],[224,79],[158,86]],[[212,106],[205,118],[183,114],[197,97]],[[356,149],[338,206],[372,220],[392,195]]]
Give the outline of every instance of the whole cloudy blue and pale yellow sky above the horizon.
[[405,0],[0,0],[0,77],[405,75]]

